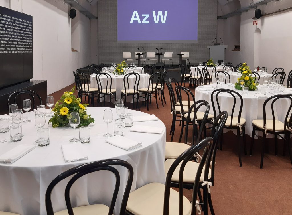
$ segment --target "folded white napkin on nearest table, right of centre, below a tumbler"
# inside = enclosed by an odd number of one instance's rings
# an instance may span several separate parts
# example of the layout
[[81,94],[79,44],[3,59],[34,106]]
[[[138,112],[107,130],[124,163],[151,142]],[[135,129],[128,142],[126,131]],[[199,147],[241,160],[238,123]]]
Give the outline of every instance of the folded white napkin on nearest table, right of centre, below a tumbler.
[[117,146],[119,148],[122,148],[122,149],[125,149],[128,151],[131,151],[131,150],[138,148],[142,145],[142,142],[137,142],[137,141],[131,140],[129,138],[122,137],[120,135],[107,138],[105,141],[109,144],[112,144],[114,146]]

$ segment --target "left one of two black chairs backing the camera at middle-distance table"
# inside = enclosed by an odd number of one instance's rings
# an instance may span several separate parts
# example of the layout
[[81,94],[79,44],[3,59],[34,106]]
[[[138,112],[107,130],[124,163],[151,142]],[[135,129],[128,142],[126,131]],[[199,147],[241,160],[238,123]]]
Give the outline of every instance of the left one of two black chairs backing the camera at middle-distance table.
[[[102,77],[100,77],[102,76]],[[106,77],[106,82],[105,77]],[[117,90],[112,89],[112,76],[107,73],[99,73],[96,75],[96,82],[98,86],[98,100],[103,97],[103,106],[105,106],[105,96],[109,96],[109,103],[112,104],[112,96],[114,96],[114,100],[117,99]],[[103,81],[102,81],[103,80]],[[100,97],[100,95],[103,95]]]

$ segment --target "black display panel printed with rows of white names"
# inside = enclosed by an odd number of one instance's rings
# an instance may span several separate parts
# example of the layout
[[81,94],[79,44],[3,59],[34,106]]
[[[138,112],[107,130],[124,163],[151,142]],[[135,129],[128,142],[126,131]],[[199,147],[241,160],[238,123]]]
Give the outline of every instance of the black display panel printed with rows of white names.
[[0,6],[0,88],[32,78],[32,16]]

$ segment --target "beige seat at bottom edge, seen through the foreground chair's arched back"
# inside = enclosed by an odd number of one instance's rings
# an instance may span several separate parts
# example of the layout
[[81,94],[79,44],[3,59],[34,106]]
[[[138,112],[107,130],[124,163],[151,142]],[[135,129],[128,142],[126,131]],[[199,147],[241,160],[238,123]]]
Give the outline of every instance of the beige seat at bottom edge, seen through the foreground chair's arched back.
[[[81,207],[74,207],[73,208],[74,215],[107,215],[109,212],[109,207],[103,204],[92,204],[92,205],[86,205]],[[2,215],[2,214],[0,214]],[[68,211],[62,210],[59,212],[56,212],[55,215],[68,215]]]

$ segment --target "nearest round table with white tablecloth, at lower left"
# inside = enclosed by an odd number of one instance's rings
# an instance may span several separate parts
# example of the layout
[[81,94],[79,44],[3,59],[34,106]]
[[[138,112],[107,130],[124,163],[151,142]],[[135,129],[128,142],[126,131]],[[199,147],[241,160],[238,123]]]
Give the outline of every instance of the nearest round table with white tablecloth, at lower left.
[[[129,162],[134,169],[134,179],[131,192],[145,184],[158,182],[165,183],[164,152],[166,142],[166,128],[159,121],[135,122],[134,124],[156,126],[163,128],[162,134],[130,132],[124,129],[124,136],[136,141],[142,141],[142,147],[127,151],[105,142],[106,124],[103,123],[103,110],[106,108],[88,107],[88,114],[95,119],[91,126],[90,143],[81,147],[87,153],[88,159],[75,162],[65,162],[61,150],[63,144],[70,143],[73,137],[73,128],[52,128],[46,123],[44,128],[50,129],[50,145],[36,147],[12,164],[0,164],[0,211],[9,211],[21,215],[45,215],[45,193],[51,181],[60,173],[77,165],[102,159],[122,159]],[[107,108],[109,109],[109,108]],[[115,109],[114,119],[117,119]],[[148,115],[143,112],[129,110],[135,116]],[[0,116],[1,117],[1,116]],[[34,126],[34,112],[28,112],[32,122],[22,122],[24,137],[19,142],[7,141],[0,144],[1,154],[19,144],[36,144],[37,128]],[[49,117],[46,117],[48,120]],[[48,122],[48,121],[47,121]],[[113,122],[109,124],[109,131],[113,134]],[[75,135],[79,135],[76,129]],[[1,133],[1,138],[10,140],[9,132]],[[118,168],[121,176],[121,186],[114,214],[119,214],[119,208],[128,178],[128,170]],[[69,180],[63,180],[55,186],[52,193],[54,211],[66,209],[64,191]],[[83,176],[71,188],[72,207],[88,204],[110,205],[115,185],[114,176],[105,171],[99,171]]]

